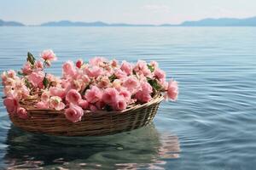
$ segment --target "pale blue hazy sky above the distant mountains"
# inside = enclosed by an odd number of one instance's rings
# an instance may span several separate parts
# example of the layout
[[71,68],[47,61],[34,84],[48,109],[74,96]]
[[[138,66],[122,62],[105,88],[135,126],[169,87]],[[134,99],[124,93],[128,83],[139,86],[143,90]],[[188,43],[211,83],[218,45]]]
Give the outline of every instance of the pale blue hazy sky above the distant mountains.
[[52,20],[178,24],[256,16],[256,0],[0,0],[0,19],[36,25]]

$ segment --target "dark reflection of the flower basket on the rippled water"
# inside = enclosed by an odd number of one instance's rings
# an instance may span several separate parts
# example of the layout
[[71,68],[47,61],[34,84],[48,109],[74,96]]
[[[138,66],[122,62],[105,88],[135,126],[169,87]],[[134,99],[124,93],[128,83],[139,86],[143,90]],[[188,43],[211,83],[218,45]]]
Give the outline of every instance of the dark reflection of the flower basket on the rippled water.
[[132,132],[103,137],[58,137],[26,133],[12,126],[4,161],[9,168],[150,167],[177,158],[179,141],[160,134],[153,124]]

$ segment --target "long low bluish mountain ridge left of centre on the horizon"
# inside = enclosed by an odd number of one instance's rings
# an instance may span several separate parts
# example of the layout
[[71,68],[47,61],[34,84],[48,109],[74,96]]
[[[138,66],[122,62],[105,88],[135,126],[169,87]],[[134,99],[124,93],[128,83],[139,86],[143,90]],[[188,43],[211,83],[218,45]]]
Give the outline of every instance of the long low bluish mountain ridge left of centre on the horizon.
[[41,24],[40,26],[154,26],[154,25],[132,25],[132,24],[125,24],[125,23],[108,24],[102,21],[73,22],[70,20],[61,20],[61,21],[46,22]]

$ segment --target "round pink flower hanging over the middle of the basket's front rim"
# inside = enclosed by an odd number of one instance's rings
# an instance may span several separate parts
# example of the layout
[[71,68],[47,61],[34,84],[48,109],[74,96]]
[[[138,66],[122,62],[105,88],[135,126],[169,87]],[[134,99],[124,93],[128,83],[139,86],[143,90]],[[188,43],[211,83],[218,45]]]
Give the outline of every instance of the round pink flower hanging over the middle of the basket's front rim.
[[84,110],[79,105],[70,104],[69,108],[65,110],[66,118],[71,122],[79,122],[84,115]]

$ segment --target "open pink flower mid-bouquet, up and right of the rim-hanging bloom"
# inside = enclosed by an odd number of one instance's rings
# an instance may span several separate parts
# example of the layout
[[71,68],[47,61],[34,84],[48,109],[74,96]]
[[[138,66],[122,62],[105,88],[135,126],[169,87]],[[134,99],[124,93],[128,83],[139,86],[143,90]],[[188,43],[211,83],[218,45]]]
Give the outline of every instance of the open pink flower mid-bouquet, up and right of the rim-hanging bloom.
[[93,86],[92,88],[86,90],[84,98],[90,103],[96,103],[102,99],[102,91],[96,86]]

